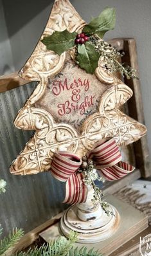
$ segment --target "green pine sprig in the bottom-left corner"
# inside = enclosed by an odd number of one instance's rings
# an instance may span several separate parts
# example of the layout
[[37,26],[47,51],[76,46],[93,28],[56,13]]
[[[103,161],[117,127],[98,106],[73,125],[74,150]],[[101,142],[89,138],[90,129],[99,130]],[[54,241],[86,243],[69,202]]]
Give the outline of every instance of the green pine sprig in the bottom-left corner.
[[0,255],[2,255],[10,247],[14,247],[19,239],[21,239],[23,234],[24,232],[21,229],[15,228],[15,230],[9,233],[8,237],[4,237],[4,239],[0,241]]

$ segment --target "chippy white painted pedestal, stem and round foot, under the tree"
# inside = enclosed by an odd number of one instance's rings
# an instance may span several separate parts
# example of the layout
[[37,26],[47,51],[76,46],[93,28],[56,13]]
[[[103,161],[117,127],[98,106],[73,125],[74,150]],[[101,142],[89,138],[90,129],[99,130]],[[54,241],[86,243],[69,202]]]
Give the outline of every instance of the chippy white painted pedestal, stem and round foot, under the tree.
[[93,188],[88,185],[87,201],[68,208],[60,220],[62,233],[68,236],[73,230],[78,233],[78,242],[84,244],[103,241],[120,226],[120,214],[114,206],[109,206],[114,215],[108,216],[99,202],[93,205],[92,199]]

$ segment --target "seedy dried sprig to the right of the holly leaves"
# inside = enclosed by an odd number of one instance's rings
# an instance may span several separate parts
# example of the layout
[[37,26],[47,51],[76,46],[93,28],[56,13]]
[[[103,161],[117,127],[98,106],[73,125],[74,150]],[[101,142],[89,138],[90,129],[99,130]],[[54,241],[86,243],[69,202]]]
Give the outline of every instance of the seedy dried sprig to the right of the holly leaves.
[[125,66],[124,63],[122,64],[118,60],[123,57],[125,54],[124,52],[120,53],[118,49],[100,39],[98,35],[89,37],[89,40],[94,44],[95,50],[100,53],[101,60],[105,62],[105,69],[108,69],[111,73],[119,72],[122,77],[126,77],[127,79],[139,78],[136,69],[133,69],[128,65]]

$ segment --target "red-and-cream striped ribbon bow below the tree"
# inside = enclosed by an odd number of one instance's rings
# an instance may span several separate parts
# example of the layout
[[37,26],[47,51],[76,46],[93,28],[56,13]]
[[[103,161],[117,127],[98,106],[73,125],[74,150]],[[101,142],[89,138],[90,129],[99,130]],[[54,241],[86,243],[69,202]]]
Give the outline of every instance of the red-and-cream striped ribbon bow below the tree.
[[[134,170],[132,165],[121,161],[121,153],[114,138],[105,138],[87,152],[87,159],[92,159],[95,169],[108,181],[121,179]],[[87,198],[87,186],[84,184],[82,172],[78,172],[82,160],[69,152],[54,154],[51,172],[59,181],[66,182],[64,203],[84,203]]]

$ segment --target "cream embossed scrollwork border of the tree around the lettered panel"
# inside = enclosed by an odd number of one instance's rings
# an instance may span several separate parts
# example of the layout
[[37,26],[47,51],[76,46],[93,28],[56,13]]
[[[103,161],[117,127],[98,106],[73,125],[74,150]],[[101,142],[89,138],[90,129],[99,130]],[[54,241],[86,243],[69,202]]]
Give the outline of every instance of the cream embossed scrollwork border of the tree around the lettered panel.
[[[81,32],[84,25],[85,22],[68,0],[56,0],[41,39],[55,30],[66,28],[70,32]],[[55,151],[70,151],[82,156],[92,149],[94,143],[107,136],[116,138],[118,145],[128,145],[146,133],[144,125],[121,113],[119,109],[132,96],[131,89],[104,71],[102,63],[96,69],[96,77],[100,84],[108,84],[109,89],[100,97],[96,113],[84,120],[80,131],[66,122],[56,123],[48,111],[35,107],[46,91],[48,78],[53,78],[62,70],[66,57],[67,53],[58,56],[46,50],[46,46],[39,41],[19,73],[22,78],[38,82],[14,123],[19,129],[35,130],[35,134],[13,161],[10,167],[13,174],[36,174],[49,170]]]

